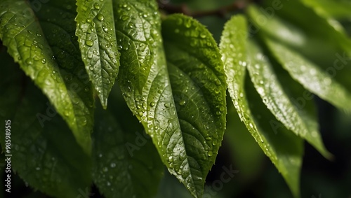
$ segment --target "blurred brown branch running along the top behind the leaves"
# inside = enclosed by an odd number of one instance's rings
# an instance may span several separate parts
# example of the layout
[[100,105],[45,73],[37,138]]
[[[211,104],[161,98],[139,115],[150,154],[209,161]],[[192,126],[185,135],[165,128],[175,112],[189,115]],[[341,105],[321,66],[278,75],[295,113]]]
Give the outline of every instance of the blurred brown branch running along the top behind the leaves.
[[172,13],[183,13],[192,17],[204,17],[209,15],[216,15],[218,17],[225,17],[227,13],[234,10],[243,10],[248,5],[248,1],[235,1],[230,5],[223,6],[214,10],[203,10],[203,11],[192,11],[185,3],[180,6],[171,5],[167,0],[159,0],[159,8],[164,10],[168,14]]

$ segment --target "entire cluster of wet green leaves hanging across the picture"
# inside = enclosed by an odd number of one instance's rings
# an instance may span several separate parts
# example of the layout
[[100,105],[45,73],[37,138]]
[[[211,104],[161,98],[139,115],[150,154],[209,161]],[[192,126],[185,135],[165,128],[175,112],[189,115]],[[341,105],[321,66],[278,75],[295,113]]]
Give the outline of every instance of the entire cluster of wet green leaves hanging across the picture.
[[274,2],[234,15],[218,48],[192,17],[161,20],[156,1],[1,1],[0,118],[12,121],[13,171],[54,197],[91,183],[106,197],[153,197],[163,163],[201,197],[228,90],[298,197],[303,140],[331,158],[311,93],[351,110],[351,40],[331,1]]

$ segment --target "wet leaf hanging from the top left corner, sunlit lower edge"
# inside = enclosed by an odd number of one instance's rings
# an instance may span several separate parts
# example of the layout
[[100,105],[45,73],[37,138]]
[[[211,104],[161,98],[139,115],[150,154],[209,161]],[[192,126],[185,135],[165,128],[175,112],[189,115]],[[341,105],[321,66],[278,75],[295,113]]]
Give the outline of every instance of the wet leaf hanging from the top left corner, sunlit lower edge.
[[[74,3],[1,1],[0,38],[26,75],[46,94],[79,145],[91,153],[93,94],[74,31]],[[34,13],[34,10],[36,11]]]

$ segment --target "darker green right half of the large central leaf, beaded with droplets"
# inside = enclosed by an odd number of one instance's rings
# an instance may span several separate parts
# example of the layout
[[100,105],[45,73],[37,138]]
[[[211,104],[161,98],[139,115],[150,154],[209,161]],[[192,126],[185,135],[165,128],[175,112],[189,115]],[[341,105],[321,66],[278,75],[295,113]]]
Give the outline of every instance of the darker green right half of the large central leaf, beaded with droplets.
[[[162,36],[196,194],[190,191],[195,197],[201,197],[204,180],[216,160],[225,130],[223,63],[216,41],[206,27],[191,17],[168,16],[162,22]],[[173,160],[173,163],[177,169],[178,162]],[[185,185],[189,183],[186,179]]]

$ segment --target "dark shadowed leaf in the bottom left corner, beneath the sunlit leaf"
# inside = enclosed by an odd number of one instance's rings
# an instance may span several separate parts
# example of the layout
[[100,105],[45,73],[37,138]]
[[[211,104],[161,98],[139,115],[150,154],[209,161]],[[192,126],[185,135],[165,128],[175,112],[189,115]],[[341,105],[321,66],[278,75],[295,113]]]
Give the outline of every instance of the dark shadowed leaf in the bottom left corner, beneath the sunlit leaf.
[[[53,197],[75,198],[86,192],[91,184],[90,158],[40,90],[13,65],[13,59],[4,52],[0,58],[2,71],[7,71],[0,78],[8,83],[1,84],[1,90],[13,99],[0,103],[1,120],[11,120],[11,153],[7,154],[12,155],[12,170],[34,189]],[[51,116],[44,127],[40,116]],[[1,133],[0,141],[5,150],[4,135]]]

